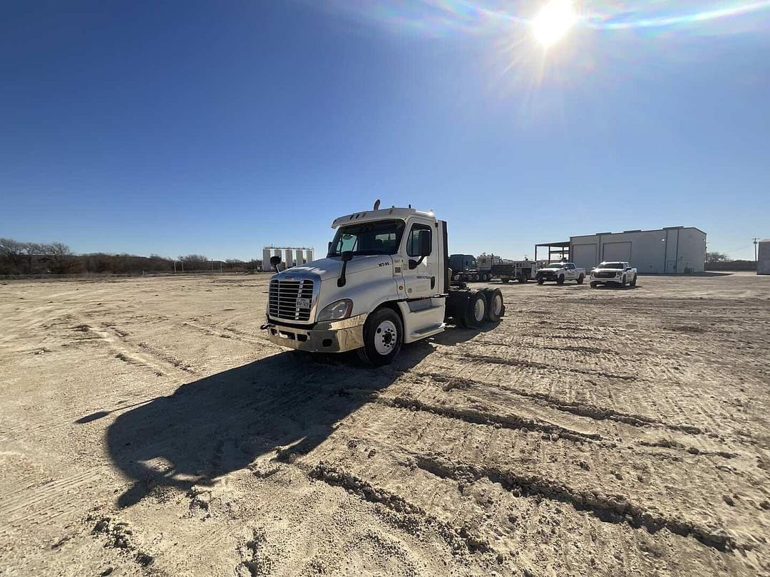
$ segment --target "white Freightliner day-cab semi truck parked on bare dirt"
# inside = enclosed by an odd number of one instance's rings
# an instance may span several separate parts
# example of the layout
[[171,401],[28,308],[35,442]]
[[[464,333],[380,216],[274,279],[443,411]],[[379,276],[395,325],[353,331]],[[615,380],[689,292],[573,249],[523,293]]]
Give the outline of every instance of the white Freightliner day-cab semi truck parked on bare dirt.
[[[326,258],[270,278],[271,342],[306,352],[357,350],[371,365],[392,362],[404,343],[504,315],[499,289],[450,282],[447,223],[414,208],[340,216]],[[270,264],[276,267],[280,257]]]

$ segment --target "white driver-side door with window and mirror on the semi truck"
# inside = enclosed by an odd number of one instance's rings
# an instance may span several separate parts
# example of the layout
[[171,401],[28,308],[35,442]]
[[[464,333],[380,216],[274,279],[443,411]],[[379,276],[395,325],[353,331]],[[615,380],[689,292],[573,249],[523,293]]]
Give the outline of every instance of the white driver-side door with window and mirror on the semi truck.
[[435,222],[412,220],[408,225],[402,251],[407,299],[424,299],[438,292],[440,252],[437,232]]

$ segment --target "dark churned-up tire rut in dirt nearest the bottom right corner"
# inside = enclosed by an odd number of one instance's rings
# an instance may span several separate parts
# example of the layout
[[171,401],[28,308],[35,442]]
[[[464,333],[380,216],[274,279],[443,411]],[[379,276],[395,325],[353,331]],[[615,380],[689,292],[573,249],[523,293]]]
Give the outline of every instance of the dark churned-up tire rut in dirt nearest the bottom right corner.
[[520,475],[511,470],[457,462],[442,455],[413,455],[417,466],[441,479],[475,482],[487,479],[521,497],[551,499],[572,505],[577,511],[588,511],[604,522],[627,523],[635,529],[644,527],[650,533],[668,529],[676,535],[694,537],[699,542],[722,552],[740,549],[735,539],[721,527],[699,525],[631,502],[624,495],[605,494],[601,489],[575,489],[563,482],[537,475]]

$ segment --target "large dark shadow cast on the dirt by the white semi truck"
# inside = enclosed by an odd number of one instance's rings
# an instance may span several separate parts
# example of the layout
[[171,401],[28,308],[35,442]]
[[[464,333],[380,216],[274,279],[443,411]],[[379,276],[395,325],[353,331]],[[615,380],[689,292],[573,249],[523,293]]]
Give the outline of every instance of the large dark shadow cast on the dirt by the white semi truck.
[[[450,329],[433,340],[454,345],[479,332]],[[433,350],[429,342],[406,345],[393,365],[379,369],[360,365],[350,354],[313,358],[280,352],[134,405],[107,430],[110,458],[133,480],[118,505],[134,505],[162,487],[210,485],[260,455],[281,459],[310,452],[340,420]],[[95,412],[77,422],[109,413]]]

